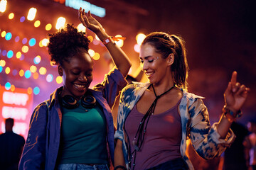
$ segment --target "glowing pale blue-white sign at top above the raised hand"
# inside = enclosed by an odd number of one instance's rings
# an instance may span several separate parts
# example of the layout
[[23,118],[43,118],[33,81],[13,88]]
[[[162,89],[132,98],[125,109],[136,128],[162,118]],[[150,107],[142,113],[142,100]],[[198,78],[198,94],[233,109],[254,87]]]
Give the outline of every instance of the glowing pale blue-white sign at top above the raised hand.
[[80,7],[85,9],[85,12],[90,11],[95,16],[104,17],[106,16],[106,9],[100,6],[95,6],[90,4],[90,2],[82,1],[82,0],[65,0],[65,6],[69,6],[71,8],[79,9]]

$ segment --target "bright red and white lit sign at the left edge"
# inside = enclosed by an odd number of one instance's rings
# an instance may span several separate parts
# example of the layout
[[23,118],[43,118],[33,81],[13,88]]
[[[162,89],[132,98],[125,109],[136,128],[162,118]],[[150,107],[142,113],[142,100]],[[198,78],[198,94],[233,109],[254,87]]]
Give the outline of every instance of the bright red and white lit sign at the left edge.
[[28,125],[32,112],[33,94],[27,89],[15,88],[15,91],[0,88],[0,133],[5,132],[4,120],[14,119],[13,131],[25,139],[28,134]]

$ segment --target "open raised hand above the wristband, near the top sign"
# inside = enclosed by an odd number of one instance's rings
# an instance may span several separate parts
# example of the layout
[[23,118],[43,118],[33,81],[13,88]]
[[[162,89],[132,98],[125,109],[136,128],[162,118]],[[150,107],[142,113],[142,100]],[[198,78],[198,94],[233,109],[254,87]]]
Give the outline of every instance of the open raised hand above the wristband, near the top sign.
[[90,11],[88,11],[87,16],[85,14],[85,9],[80,8],[78,11],[78,17],[83,26],[97,33],[99,30],[103,30],[102,25],[92,17]]

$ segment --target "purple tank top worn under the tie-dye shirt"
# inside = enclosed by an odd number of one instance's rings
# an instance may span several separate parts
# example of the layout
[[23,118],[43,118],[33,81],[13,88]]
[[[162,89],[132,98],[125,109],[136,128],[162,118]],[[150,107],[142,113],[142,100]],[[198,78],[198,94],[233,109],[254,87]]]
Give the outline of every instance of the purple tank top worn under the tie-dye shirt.
[[[181,116],[178,113],[178,101],[176,106],[164,113],[151,115],[146,128],[146,135],[141,151],[136,154],[134,169],[149,169],[156,165],[181,157]],[[143,114],[134,106],[125,121],[124,128],[129,137],[131,152],[134,152],[132,142],[139,128]],[[132,168],[134,154],[132,154]]]

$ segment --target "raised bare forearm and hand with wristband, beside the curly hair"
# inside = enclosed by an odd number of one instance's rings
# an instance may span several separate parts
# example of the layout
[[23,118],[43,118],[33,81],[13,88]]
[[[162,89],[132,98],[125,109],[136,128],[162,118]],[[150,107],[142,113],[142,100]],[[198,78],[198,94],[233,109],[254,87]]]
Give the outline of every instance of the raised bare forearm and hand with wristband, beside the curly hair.
[[[88,11],[86,16],[85,10],[80,8],[78,11],[78,17],[86,28],[92,30],[102,42],[105,42],[105,46],[110,52],[114,64],[124,75],[124,77],[126,77],[131,67],[131,62],[127,55],[124,53],[124,51],[114,44],[114,40],[112,40],[112,38],[110,38],[110,35],[105,32],[102,25],[95,18],[92,17],[90,11]],[[110,42],[108,42],[107,39],[110,40]]]

